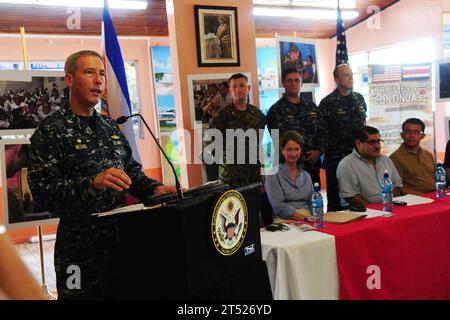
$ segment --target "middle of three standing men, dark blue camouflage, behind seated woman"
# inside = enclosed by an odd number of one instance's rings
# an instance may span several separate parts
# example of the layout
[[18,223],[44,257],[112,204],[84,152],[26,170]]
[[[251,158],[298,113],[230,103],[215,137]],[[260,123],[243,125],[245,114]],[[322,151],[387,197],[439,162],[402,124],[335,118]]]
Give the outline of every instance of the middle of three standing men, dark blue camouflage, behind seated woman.
[[313,183],[320,184],[320,153],[323,149],[323,125],[316,104],[308,99],[300,98],[302,78],[297,69],[286,69],[283,72],[283,97],[270,107],[267,113],[269,130],[279,129],[280,137],[284,132],[294,130],[300,133],[305,144],[304,169],[311,175]]

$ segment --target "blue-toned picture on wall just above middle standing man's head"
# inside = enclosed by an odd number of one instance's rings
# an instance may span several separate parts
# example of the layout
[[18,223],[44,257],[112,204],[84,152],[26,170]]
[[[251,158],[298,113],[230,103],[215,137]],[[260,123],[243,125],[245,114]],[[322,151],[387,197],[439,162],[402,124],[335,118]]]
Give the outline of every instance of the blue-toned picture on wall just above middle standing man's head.
[[282,87],[282,74],[286,69],[297,69],[303,86],[319,86],[316,45],[314,41],[292,37],[277,37],[278,79]]

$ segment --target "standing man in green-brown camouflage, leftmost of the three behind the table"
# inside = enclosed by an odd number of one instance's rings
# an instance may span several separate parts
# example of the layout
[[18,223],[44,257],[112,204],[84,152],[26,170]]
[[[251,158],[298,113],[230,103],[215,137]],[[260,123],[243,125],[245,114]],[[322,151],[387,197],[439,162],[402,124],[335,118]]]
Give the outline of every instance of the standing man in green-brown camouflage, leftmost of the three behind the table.
[[[223,137],[223,163],[229,169],[236,180],[245,180],[248,183],[261,181],[261,164],[259,159],[260,132],[266,125],[264,114],[255,106],[249,104],[248,93],[250,86],[248,85],[247,76],[242,73],[236,73],[228,80],[230,84],[230,92],[233,103],[221,108],[212,121],[211,128],[221,131]],[[243,132],[239,133],[239,129]],[[247,131],[248,130],[248,131]],[[234,157],[233,163],[227,163],[227,153],[233,150],[227,150],[227,134],[226,131],[234,132],[237,139],[233,138]],[[255,135],[257,141],[247,139],[248,135]],[[245,143],[239,143],[239,141]],[[237,141],[236,141],[237,140]],[[231,141],[228,141],[231,144]],[[256,154],[254,154],[256,151]],[[244,163],[239,163],[239,156],[244,155]],[[216,153],[217,154],[217,153]],[[255,158],[256,157],[256,158]],[[252,158],[256,159],[256,163],[252,163]],[[230,174],[220,167],[219,176],[223,181],[231,181]],[[241,181],[242,182],[242,181]]]

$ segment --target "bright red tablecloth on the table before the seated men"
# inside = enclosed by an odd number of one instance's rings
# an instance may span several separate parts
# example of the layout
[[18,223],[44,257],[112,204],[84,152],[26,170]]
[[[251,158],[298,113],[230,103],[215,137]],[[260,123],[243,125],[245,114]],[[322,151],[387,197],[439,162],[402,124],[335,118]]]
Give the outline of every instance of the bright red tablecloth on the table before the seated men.
[[450,299],[450,197],[426,197],[435,201],[320,230],[335,237],[340,299]]

